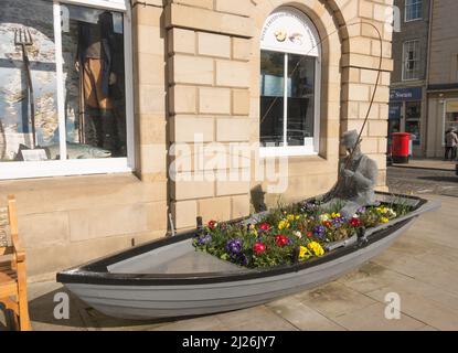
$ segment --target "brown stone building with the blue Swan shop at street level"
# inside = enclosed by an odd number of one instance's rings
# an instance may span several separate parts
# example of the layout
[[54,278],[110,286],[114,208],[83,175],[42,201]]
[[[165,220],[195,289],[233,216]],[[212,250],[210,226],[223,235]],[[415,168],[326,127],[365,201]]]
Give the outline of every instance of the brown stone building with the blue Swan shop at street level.
[[430,0],[395,0],[401,32],[393,33],[388,136],[411,132],[413,156],[426,149],[426,87]]

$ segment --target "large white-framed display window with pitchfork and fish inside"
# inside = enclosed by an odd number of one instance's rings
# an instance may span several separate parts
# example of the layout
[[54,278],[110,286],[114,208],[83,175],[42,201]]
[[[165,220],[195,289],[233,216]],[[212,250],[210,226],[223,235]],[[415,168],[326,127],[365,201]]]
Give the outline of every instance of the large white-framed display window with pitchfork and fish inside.
[[87,3],[2,3],[0,179],[131,170],[127,9]]

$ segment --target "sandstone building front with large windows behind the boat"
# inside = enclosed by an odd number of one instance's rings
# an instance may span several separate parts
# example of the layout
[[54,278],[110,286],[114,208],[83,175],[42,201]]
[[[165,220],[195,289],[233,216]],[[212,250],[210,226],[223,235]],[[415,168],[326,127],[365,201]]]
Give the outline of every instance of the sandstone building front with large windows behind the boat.
[[[17,196],[31,275],[198,215],[248,215],[254,191],[269,205],[333,185],[339,137],[361,128],[372,96],[379,54],[366,49],[379,36],[348,26],[359,7],[273,3],[2,1],[0,197]],[[363,149],[385,190],[393,63],[382,55]],[[392,129],[419,130],[415,97],[393,101]]]

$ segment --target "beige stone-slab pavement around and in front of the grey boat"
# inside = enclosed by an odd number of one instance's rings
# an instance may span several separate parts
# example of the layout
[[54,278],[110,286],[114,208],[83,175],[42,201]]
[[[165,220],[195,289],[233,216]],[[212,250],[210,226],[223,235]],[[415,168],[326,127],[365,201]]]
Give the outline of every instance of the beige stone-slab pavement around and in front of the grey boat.
[[[451,179],[423,183],[425,176],[447,176],[440,174],[441,171],[418,170],[407,175],[403,174],[405,169],[403,171],[388,170],[388,183],[401,192],[406,192],[407,186],[417,193],[432,189],[426,185],[458,185]],[[71,297],[70,319],[55,320],[53,298],[64,289],[55,282],[39,282],[29,287],[33,329],[458,330],[458,197],[432,194],[444,191],[435,188],[423,192],[423,196],[440,200],[440,210],[419,217],[390,249],[371,263],[313,290],[246,310],[149,322],[107,318]],[[400,320],[384,317],[385,296],[392,292],[401,297]]]

